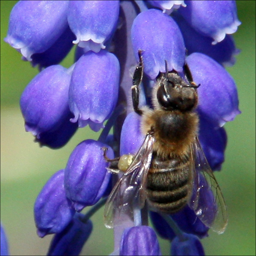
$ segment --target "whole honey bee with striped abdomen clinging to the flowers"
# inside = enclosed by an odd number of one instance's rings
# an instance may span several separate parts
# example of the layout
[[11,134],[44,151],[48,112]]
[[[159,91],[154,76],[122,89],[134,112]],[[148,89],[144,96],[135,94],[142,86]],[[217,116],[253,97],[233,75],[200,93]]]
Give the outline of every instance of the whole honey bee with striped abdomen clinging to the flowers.
[[[188,204],[206,226],[223,233],[226,204],[198,141],[199,85],[186,64],[183,79],[176,71],[169,72],[165,63],[166,71],[159,73],[152,89],[153,109],[139,108],[143,67],[139,51],[132,100],[134,111],[142,116],[145,140],[108,197],[105,225],[113,227],[113,214],[133,219],[145,202],[150,210],[167,214]],[[115,168],[110,164],[110,170]]]

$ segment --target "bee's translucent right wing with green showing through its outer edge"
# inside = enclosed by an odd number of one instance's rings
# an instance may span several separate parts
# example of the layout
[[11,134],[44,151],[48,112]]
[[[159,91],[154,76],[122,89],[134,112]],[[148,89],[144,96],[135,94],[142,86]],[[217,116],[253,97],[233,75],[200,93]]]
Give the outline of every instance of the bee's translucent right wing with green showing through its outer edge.
[[197,137],[191,153],[194,186],[189,206],[206,226],[221,234],[227,225],[226,204]]

